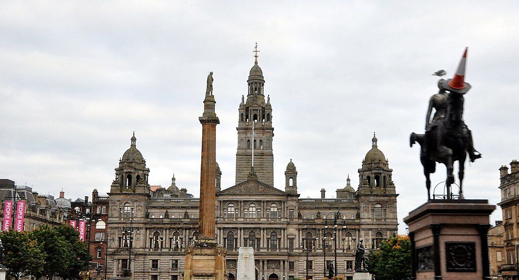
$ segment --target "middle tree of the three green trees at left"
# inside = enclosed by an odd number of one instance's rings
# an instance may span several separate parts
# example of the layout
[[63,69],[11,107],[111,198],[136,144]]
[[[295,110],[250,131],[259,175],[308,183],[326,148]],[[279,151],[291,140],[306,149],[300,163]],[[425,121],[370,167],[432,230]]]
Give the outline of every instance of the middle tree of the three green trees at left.
[[40,250],[45,252],[45,267],[41,274],[35,274],[37,279],[44,275],[49,277],[60,275],[70,269],[72,248],[65,241],[65,237],[45,224],[30,234]]

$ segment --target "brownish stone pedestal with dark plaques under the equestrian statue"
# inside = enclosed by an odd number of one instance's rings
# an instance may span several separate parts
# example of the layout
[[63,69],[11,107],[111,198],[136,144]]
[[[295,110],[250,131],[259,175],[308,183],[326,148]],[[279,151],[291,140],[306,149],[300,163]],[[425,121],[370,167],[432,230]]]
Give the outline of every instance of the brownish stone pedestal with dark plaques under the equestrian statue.
[[486,199],[433,199],[404,222],[411,238],[411,279],[490,279],[487,232],[496,209]]

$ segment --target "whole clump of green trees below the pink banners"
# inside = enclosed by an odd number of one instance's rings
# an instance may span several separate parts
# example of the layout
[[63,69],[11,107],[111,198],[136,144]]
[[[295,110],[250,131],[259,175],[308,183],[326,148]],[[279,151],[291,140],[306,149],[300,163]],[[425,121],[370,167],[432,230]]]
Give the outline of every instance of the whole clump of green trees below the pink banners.
[[16,279],[22,272],[37,279],[45,275],[79,279],[79,273],[88,270],[92,259],[88,244],[79,240],[70,225],[42,225],[32,232],[2,232],[0,238],[4,244],[3,264]]

